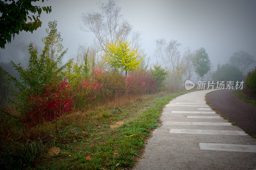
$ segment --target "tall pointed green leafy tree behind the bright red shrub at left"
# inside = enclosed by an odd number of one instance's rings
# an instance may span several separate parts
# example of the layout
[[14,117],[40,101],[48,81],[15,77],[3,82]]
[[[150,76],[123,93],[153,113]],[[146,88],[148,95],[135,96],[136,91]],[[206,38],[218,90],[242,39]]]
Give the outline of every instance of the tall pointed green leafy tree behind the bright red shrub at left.
[[[53,113],[60,114],[60,109],[56,107],[56,105],[58,102],[63,104],[63,100],[66,100],[66,95],[64,95],[65,97],[59,98],[60,92],[56,92],[56,89],[59,89],[58,87],[55,87],[55,89],[51,89],[50,87],[63,82],[63,70],[67,67],[70,61],[64,65],[61,64],[63,56],[67,53],[67,49],[62,51],[62,39],[60,38],[60,33],[57,32],[57,21],[50,21],[48,26],[49,29],[46,29],[47,36],[42,39],[44,42],[44,49],[41,54],[38,54],[38,49],[33,43],[29,44],[28,52],[30,56],[27,68],[21,67],[20,63],[15,64],[13,61],[10,62],[19,73],[20,81],[16,77],[5,72],[8,79],[15,87],[12,91],[13,99],[11,102],[14,108],[21,114],[21,116],[24,116],[26,120],[27,118],[30,119],[30,117],[34,118],[32,112],[38,112],[43,108],[52,110]],[[60,89],[66,89],[67,86],[68,84],[64,84]],[[53,94],[55,96],[53,96]],[[39,100],[41,105],[39,104]],[[57,103],[54,102],[54,107],[48,107],[48,104],[50,104],[49,102],[53,102],[53,100]],[[35,109],[38,108],[38,106],[42,106],[42,108]],[[39,113],[36,114],[38,115]]]

